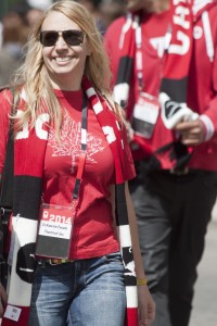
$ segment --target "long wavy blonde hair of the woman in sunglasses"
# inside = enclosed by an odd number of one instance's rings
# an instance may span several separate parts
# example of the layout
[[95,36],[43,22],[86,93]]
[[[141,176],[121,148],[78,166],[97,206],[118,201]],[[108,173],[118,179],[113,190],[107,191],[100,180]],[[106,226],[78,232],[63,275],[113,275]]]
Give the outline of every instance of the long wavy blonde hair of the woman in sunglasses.
[[80,3],[62,0],[53,3],[40,15],[27,42],[25,62],[15,75],[14,84],[16,89],[20,92],[21,88],[24,87],[26,98],[26,108],[20,117],[20,126],[27,121],[30,121],[31,125],[34,125],[38,114],[42,110],[44,111],[46,108],[56,129],[60,130],[61,127],[62,114],[60,103],[52,90],[42,58],[42,45],[39,41],[39,34],[43,21],[51,12],[55,11],[63,13],[69,20],[74,21],[81,30],[85,32],[91,49],[91,55],[87,57],[86,60],[85,74],[95,90],[100,91],[106,100],[112,103],[114,111],[118,111],[110,95],[110,63],[103,46],[102,36],[95,26],[93,17]]

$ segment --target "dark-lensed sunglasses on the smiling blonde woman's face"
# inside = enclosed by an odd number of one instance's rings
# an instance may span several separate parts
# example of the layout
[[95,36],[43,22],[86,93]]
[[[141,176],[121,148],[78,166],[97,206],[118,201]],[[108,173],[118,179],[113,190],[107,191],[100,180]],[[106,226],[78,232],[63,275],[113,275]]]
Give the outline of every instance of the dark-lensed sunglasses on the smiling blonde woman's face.
[[40,42],[43,47],[53,47],[59,37],[62,36],[68,46],[80,46],[85,39],[85,33],[78,29],[67,30],[43,30],[40,32]]

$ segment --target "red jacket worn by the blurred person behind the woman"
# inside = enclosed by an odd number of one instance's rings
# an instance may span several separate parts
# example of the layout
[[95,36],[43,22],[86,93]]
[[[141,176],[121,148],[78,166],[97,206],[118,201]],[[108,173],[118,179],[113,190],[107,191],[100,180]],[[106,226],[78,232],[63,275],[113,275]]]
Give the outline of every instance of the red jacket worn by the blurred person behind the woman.
[[[189,82],[188,82],[188,106],[197,112],[202,116],[207,127],[207,138],[209,140],[194,148],[193,155],[189,163],[192,168],[201,170],[217,170],[217,1],[204,4],[194,16],[194,33],[193,33],[193,53],[190,64]],[[202,18],[202,13],[208,13],[208,21],[212,26],[212,45],[214,48],[214,58],[208,57],[207,53],[207,37],[205,34],[205,23]],[[167,32],[170,20],[170,12],[166,11],[162,14],[144,15],[141,22],[143,35],[143,75],[144,75],[144,90],[151,95],[157,96],[161,84],[161,65],[163,60],[156,57],[156,50],[159,55],[163,54],[164,37]],[[119,49],[118,41],[122,32],[122,26],[125,18],[120,17],[110,25],[105,34],[105,46],[111,59],[111,66],[116,78]],[[146,40],[155,48],[150,47]],[[210,45],[209,45],[210,46]],[[127,117],[130,120],[133,103],[138,97],[137,79],[133,74],[130,83],[130,97],[127,106]],[[113,83],[114,83],[113,80]],[[136,80],[136,82],[135,82]],[[156,149],[173,141],[174,134],[167,129],[161,118],[157,118],[153,137],[146,142],[151,149]],[[140,150],[142,152],[142,150]],[[133,153],[133,150],[132,150]],[[142,158],[142,155],[140,155]],[[143,153],[145,158],[145,153]],[[158,156],[162,168],[170,168],[171,162],[168,154]]]

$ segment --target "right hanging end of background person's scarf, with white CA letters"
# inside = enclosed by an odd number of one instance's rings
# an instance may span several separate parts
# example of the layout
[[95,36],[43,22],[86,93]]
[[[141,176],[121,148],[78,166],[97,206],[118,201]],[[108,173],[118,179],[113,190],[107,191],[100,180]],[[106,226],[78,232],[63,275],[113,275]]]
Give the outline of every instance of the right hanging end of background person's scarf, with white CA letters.
[[[165,36],[166,48],[159,90],[162,120],[167,128],[173,128],[183,117],[194,118],[193,112],[187,106],[188,75],[193,45],[192,2],[170,1],[171,22]],[[157,153],[166,151],[169,152],[170,161],[174,161],[174,168],[182,171],[191,159],[193,148],[184,146],[174,133],[174,141],[159,148]]]

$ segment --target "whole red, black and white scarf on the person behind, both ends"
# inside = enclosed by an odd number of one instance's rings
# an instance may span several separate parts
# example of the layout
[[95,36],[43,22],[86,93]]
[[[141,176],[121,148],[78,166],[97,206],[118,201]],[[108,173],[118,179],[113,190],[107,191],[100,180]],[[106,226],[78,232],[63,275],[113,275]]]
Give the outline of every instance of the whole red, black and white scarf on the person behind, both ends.
[[[188,73],[192,52],[191,0],[170,0],[170,12],[171,20],[165,36],[167,42],[159,90],[162,117],[166,127],[169,124],[168,113],[173,103],[178,108],[177,111],[182,110],[181,114],[182,112],[183,114],[192,114],[191,110],[186,105]],[[136,63],[137,30],[140,28],[141,14],[142,12],[135,14],[129,13],[120,35],[120,60],[116,84],[114,86],[114,97],[124,109],[128,101],[130,79]],[[137,136],[135,141],[139,143],[148,156],[154,154],[143,137]],[[157,154],[169,151],[174,166],[182,167],[189,162],[191,150],[191,148],[183,146],[177,139],[177,135],[174,134],[174,141],[158,149]]]

